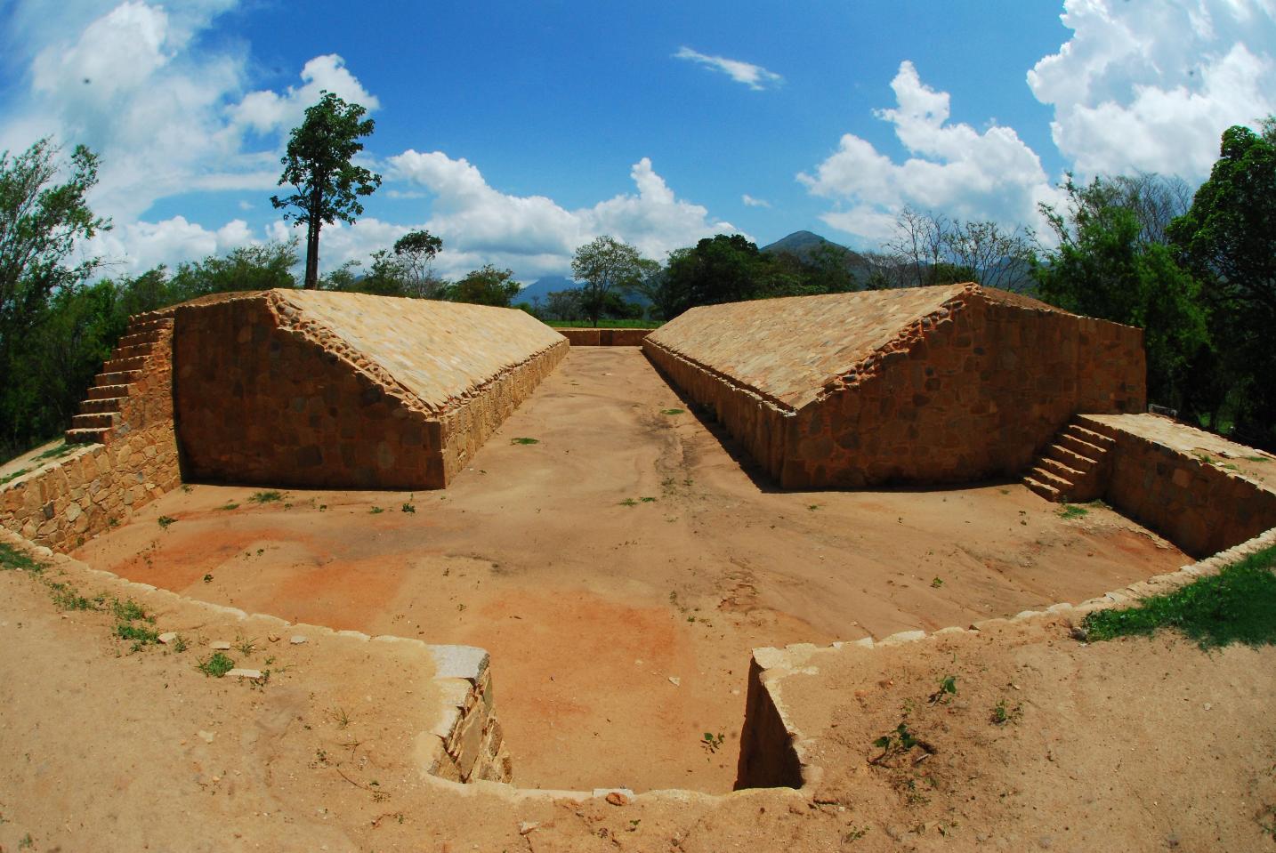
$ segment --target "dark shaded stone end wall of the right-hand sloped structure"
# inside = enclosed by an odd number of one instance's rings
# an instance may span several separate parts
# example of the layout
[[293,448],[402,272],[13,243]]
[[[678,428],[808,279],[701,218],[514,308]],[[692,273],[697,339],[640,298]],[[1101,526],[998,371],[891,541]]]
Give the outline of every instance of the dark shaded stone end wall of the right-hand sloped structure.
[[1073,414],[1146,404],[1142,333],[967,292],[787,421],[785,488],[1023,470]]

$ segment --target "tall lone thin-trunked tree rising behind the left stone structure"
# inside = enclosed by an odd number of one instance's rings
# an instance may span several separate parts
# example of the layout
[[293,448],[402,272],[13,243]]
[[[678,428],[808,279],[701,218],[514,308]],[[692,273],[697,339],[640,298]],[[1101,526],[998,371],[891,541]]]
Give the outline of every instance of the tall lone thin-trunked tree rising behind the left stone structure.
[[382,176],[351,158],[364,149],[359,142],[373,133],[374,122],[357,103],[346,103],[332,92],[323,92],[319,103],[306,108],[301,126],[292,129],[288,148],[281,161],[279,186],[296,191],[271,196],[276,209],[287,210],[285,219],[306,226],[305,287],[319,286],[319,231],[337,219],[353,223],[362,215],[359,199],[382,185]]

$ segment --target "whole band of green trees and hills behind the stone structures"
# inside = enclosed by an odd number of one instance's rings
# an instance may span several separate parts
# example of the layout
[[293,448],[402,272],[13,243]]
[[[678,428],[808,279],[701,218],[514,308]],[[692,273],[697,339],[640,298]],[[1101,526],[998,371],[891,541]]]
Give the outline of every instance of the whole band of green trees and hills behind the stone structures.
[[[225,256],[111,275],[75,246],[110,227],[84,195],[97,158],[68,163],[42,140],[0,156],[0,458],[56,435],[133,314],[226,291],[296,287],[299,246],[272,242]],[[59,182],[60,177],[65,177]],[[675,250],[664,263],[612,237],[581,246],[579,287],[521,301],[509,269],[457,281],[433,270],[441,241],[404,235],[324,289],[516,306],[546,320],[667,320],[690,307],[777,296],[976,281],[1139,326],[1150,400],[1184,419],[1276,449],[1276,120],[1230,128],[1210,179],[1109,176],[1062,187],[1044,207],[1051,235],[905,210],[879,251],[823,242],[762,251],[740,235]]]

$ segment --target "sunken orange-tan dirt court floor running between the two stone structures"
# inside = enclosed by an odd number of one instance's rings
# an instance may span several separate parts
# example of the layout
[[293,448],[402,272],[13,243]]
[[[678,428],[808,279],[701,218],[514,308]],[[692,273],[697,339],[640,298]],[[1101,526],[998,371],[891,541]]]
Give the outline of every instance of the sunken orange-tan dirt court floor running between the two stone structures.
[[521,785],[709,792],[735,779],[752,648],[966,625],[1191,562],[1018,483],[777,492],[688,409],[638,348],[573,349],[447,491],[258,505],[194,486],[75,556],[251,612],[487,649]]

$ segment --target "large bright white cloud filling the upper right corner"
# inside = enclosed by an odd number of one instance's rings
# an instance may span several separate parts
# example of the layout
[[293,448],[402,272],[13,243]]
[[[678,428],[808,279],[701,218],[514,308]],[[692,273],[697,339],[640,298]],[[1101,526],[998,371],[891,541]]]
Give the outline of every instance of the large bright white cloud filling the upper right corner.
[[1224,129],[1276,111],[1271,0],[1067,0],[1063,23],[1027,82],[1083,176],[1203,179]]

